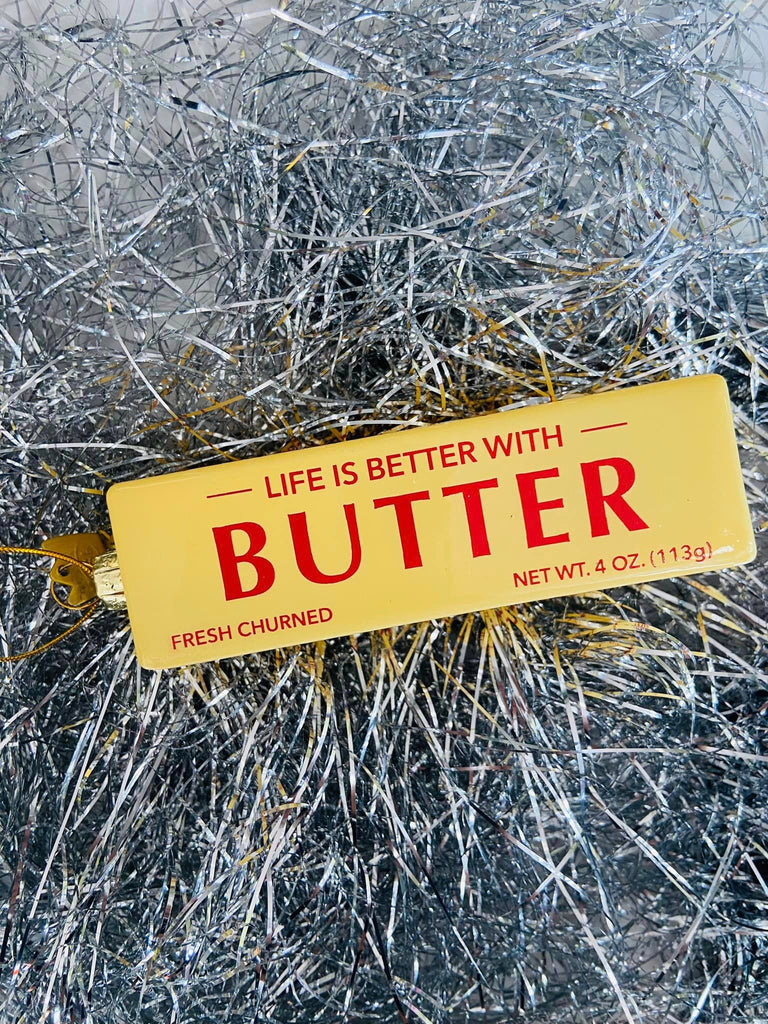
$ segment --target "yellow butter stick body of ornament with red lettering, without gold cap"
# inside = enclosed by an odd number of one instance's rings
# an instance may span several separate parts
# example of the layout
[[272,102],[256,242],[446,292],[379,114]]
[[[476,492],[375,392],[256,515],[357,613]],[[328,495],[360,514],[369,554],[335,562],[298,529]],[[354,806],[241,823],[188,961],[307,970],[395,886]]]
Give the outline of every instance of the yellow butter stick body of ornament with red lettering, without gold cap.
[[132,480],[108,505],[150,669],[755,557],[717,376]]

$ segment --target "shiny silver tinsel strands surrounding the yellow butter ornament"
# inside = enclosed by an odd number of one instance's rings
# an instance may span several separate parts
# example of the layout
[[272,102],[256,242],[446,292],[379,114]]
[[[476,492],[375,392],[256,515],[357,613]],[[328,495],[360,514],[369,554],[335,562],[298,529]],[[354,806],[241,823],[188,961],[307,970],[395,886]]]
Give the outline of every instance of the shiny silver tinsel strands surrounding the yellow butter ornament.
[[[4,666],[8,1021],[768,1017],[760,5],[0,30],[5,545],[111,481],[728,380],[759,555],[210,664]],[[5,558],[0,653],[63,632]]]

